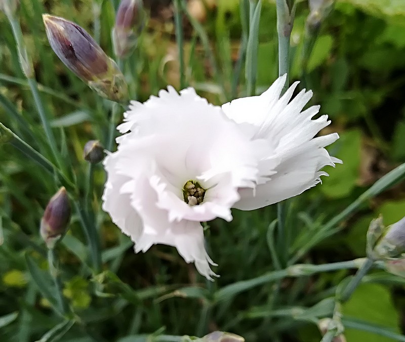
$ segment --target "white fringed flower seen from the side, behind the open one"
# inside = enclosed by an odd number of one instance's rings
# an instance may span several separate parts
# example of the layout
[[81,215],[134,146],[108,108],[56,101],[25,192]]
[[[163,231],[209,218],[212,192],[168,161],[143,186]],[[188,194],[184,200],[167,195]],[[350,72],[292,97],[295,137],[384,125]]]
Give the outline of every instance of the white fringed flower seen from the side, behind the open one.
[[260,96],[233,100],[222,106],[250,139],[265,139],[270,150],[259,163],[260,183],[254,188],[239,189],[241,199],[235,208],[257,209],[299,195],[321,182],[320,176],[328,176],[319,171],[323,166],[342,162],[325,149],[339,138],[337,133],[314,138],[330,124],[328,116],[311,120],[319,106],[302,111],[312,92],[304,89],[291,100],[298,84],[295,82],[280,98],[285,82],[286,75]]

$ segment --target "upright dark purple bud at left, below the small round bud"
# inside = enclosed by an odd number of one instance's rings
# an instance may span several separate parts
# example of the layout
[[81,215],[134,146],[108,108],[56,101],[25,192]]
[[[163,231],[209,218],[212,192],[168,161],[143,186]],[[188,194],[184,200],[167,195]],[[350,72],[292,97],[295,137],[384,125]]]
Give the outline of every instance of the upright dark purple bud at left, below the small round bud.
[[69,220],[69,198],[66,189],[62,187],[50,199],[41,220],[39,232],[48,248],[53,248],[55,243],[66,233]]

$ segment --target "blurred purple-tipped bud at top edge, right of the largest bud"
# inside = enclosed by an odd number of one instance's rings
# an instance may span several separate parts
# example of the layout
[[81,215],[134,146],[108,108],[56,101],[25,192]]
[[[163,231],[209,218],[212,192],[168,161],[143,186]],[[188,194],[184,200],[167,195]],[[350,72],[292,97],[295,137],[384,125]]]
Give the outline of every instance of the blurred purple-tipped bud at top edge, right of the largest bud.
[[133,51],[144,24],[145,11],[142,0],[121,0],[112,29],[116,56],[125,57]]

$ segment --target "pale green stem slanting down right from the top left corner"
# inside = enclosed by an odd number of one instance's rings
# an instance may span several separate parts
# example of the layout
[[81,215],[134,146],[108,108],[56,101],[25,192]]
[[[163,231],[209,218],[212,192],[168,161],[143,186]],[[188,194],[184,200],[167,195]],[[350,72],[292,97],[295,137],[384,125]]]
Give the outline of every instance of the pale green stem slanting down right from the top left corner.
[[25,44],[24,44],[24,39],[23,39],[23,35],[21,32],[20,23],[12,15],[9,15],[8,19],[10,21],[10,25],[13,30],[14,39],[16,40],[16,43],[17,43],[17,50],[18,50],[18,55],[20,58],[21,69],[24,72],[25,76],[27,77],[28,86],[31,90],[32,97],[33,97],[34,103],[35,103],[35,107],[39,114],[39,118],[41,118],[42,126],[44,128],[45,135],[48,139],[48,143],[51,147],[52,154],[53,154],[58,166],[62,170],[64,170],[64,164],[62,162],[61,155],[58,152],[55,137],[51,130],[51,126],[48,122],[47,114],[45,112],[45,108],[43,106],[41,97],[39,96],[38,86],[37,86],[36,80],[34,78],[32,61],[28,57],[27,51],[25,49]]

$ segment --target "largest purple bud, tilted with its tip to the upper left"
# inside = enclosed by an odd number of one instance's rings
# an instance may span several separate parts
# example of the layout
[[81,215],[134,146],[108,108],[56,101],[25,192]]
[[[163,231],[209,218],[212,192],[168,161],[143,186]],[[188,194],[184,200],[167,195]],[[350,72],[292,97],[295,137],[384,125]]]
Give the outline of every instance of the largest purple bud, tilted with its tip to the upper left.
[[52,50],[72,72],[100,96],[124,102],[128,86],[123,73],[82,27],[63,18],[43,15]]

